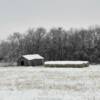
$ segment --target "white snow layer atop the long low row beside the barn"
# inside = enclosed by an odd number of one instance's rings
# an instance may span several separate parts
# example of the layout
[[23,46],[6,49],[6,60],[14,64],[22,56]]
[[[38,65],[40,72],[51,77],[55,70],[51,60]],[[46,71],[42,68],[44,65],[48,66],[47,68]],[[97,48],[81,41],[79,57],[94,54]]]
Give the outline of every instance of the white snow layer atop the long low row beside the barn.
[[47,61],[45,64],[87,64],[88,61]]

